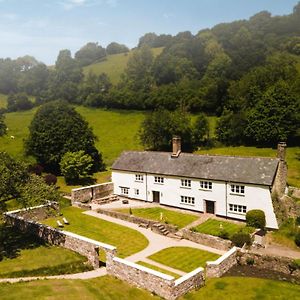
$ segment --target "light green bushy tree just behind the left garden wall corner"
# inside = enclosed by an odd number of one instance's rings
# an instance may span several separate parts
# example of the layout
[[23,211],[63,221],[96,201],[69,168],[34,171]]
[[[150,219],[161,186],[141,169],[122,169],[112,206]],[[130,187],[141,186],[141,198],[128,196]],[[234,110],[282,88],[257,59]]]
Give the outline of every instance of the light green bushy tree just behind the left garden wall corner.
[[48,201],[58,201],[60,194],[55,185],[46,184],[41,176],[31,174],[28,181],[21,186],[18,202],[24,208],[46,204]]

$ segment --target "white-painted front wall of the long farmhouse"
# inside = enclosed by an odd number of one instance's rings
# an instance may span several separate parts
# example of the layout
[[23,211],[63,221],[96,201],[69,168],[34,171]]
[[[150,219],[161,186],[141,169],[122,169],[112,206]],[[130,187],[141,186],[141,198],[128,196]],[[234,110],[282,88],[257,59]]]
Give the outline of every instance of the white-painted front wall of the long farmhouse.
[[[143,175],[143,182],[138,182],[135,180],[136,174]],[[155,183],[155,176],[163,177],[164,183]],[[212,189],[203,190],[200,187],[200,179],[186,178],[191,180],[190,188],[182,187],[181,179],[184,179],[184,177],[133,173],[125,171],[112,172],[114,193],[117,195],[121,195],[121,187],[127,187],[129,188],[129,193],[128,195],[124,196],[152,202],[152,191],[157,191],[160,193],[161,204],[199,212],[205,212],[205,200],[214,201],[216,215],[240,220],[245,220],[245,213],[230,212],[229,204],[243,205],[247,207],[247,211],[251,209],[263,210],[266,215],[267,227],[274,229],[278,228],[268,186],[234,183],[245,186],[244,195],[236,195],[231,192],[230,183],[226,183],[224,181],[210,180],[210,182],[212,182]],[[203,179],[203,181],[207,180]],[[136,189],[139,190],[139,195],[136,195]],[[195,199],[195,204],[192,205],[181,203],[181,196],[193,197]]]

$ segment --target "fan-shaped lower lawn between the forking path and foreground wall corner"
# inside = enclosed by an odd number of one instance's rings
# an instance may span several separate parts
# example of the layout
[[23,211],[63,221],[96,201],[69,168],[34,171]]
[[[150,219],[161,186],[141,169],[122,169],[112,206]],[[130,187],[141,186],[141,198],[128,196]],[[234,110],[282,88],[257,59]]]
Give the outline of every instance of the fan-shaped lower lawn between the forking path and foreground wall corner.
[[170,247],[149,256],[158,263],[168,267],[191,272],[196,268],[205,267],[207,261],[214,261],[220,255],[190,247]]

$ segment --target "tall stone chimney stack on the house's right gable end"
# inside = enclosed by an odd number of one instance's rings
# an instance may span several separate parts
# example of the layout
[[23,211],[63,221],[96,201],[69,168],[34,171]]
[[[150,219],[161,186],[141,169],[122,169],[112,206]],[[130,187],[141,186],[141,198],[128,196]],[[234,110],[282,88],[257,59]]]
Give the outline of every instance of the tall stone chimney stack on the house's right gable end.
[[286,143],[280,142],[277,145],[277,158],[279,159],[278,168],[276,177],[274,180],[272,194],[274,192],[277,196],[281,197],[286,188],[286,178],[287,178],[287,163],[285,161],[285,153],[286,153]]

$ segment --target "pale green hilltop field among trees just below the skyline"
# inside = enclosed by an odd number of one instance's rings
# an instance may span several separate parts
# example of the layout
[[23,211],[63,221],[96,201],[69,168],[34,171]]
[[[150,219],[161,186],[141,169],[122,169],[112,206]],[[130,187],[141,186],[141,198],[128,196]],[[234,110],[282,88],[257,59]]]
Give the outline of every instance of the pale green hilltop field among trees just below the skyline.
[[[163,48],[152,48],[153,56],[156,57],[162,52]],[[94,63],[92,65],[83,68],[83,73],[87,75],[89,72],[99,75],[101,73],[106,73],[113,84],[117,84],[121,78],[121,74],[124,72],[129,57],[132,55],[133,51],[128,54],[112,54],[108,55],[106,60]]]

